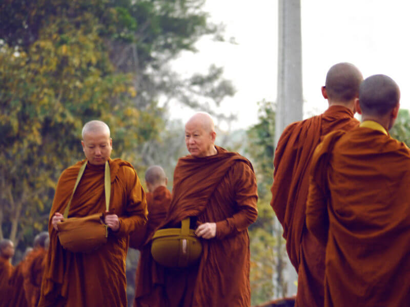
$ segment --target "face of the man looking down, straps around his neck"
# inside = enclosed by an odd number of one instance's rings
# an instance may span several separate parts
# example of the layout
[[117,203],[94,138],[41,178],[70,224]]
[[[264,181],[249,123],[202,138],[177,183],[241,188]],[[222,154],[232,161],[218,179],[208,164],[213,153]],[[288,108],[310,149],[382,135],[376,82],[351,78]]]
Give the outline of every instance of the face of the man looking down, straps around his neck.
[[104,131],[86,133],[81,144],[87,160],[93,165],[103,165],[110,158],[112,139]]

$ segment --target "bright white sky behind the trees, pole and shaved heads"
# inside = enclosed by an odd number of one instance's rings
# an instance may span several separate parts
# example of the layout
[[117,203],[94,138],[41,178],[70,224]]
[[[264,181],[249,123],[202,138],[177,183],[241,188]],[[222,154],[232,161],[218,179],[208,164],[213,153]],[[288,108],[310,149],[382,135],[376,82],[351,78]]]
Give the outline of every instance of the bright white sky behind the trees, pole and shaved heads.
[[[224,67],[237,93],[222,102],[221,111],[238,116],[234,128],[257,121],[257,101],[276,100],[277,0],[207,0],[204,10],[226,25],[226,36],[238,45],[201,39],[196,54],[183,53],[173,67],[182,75],[205,73],[210,64]],[[327,107],[320,87],[327,70],[338,62],[355,64],[364,77],[386,74],[401,89],[401,106],[410,108],[410,2],[403,0],[301,0],[304,113]],[[172,105],[173,118],[189,111]]]

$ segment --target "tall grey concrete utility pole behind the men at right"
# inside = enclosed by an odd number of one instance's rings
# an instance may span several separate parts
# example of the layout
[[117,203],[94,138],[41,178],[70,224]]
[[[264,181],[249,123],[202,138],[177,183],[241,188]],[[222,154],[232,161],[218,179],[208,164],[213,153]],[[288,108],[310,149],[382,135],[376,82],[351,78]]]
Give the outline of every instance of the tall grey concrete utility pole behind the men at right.
[[[302,119],[302,39],[300,26],[300,0],[279,0],[278,2],[278,96],[276,99],[275,143],[277,144],[283,129],[290,123]],[[276,217],[275,217],[276,218]],[[282,230],[279,223],[274,222],[277,237]],[[278,231],[279,230],[279,231]],[[281,246],[278,246],[278,252]],[[285,269],[281,271],[282,258],[278,259],[276,282],[287,284],[283,294],[296,294],[297,273],[289,258],[286,257]]]

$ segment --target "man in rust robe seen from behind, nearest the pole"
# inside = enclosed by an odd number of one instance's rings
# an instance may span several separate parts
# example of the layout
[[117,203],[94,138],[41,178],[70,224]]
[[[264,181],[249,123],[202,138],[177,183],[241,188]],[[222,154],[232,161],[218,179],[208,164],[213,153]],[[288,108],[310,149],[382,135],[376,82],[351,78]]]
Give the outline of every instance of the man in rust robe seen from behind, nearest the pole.
[[286,250],[298,272],[296,306],[320,307],[324,297],[325,251],[305,226],[312,155],[326,134],[359,125],[353,116],[362,80],[354,65],[333,65],[322,86],[329,108],[321,115],[286,127],[276,147],[271,206],[283,227]]

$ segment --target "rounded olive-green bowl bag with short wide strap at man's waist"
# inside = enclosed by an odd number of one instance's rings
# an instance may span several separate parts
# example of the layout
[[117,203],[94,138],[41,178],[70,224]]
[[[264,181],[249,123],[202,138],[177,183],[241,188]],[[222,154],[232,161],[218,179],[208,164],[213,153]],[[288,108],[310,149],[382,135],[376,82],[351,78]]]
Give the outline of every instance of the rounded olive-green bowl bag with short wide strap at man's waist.
[[181,228],[159,229],[152,237],[151,254],[160,265],[186,268],[198,262],[202,254],[201,240],[190,229],[190,218],[181,222]]

